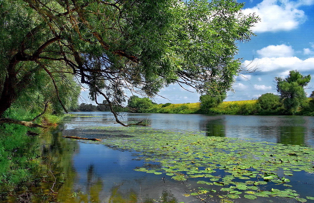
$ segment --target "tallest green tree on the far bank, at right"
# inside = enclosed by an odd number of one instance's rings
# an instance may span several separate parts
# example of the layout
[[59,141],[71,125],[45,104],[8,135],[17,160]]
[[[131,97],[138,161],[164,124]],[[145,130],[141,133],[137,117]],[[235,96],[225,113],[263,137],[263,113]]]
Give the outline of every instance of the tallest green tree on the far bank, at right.
[[307,101],[304,88],[311,81],[311,75],[303,76],[299,71],[290,71],[285,79],[275,77],[277,92],[283,101],[285,110],[295,114],[299,107]]

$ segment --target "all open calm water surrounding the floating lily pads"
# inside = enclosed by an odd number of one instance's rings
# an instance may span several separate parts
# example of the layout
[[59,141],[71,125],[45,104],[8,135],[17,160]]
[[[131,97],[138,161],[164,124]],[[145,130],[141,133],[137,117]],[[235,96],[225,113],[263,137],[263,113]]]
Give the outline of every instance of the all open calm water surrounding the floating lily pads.
[[[112,120],[113,117],[109,112],[73,112],[73,114],[76,116],[66,117],[57,130],[36,139],[37,145],[40,146],[41,157],[51,168],[54,176],[52,181],[41,182],[30,187],[31,191],[28,191],[29,194],[52,195],[52,198],[44,200],[33,197],[32,202],[219,202],[217,198],[199,201],[194,196],[183,195],[191,193],[193,188],[200,187],[196,182],[202,178],[181,182],[171,177],[163,179],[164,174],[134,171],[134,168],[147,164],[156,164],[158,167],[158,163],[139,160],[136,156],[137,152],[134,151],[121,151],[103,144],[62,137],[64,131],[84,129],[86,126],[120,126],[114,124],[115,121]],[[93,117],[84,117],[91,115]],[[255,138],[258,141],[314,146],[314,117],[123,114],[121,120],[124,122],[143,120],[155,129],[204,131],[204,136]],[[302,196],[313,196],[313,179],[313,174],[295,172],[295,175],[291,176],[290,184],[296,185],[294,188],[302,191]],[[300,182],[303,184],[299,184]],[[51,187],[56,193],[51,193]],[[217,191],[220,189],[215,185],[209,187]],[[280,186],[277,188],[285,189]],[[265,188],[265,190],[270,189]],[[25,191],[20,193],[24,194]],[[16,202],[17,198],[19,197],[10,197],[2,202]],[[264,200],[241,198],[234,201],[262,203]],[[279,197],[268,200],[296,202],[293,199]]]

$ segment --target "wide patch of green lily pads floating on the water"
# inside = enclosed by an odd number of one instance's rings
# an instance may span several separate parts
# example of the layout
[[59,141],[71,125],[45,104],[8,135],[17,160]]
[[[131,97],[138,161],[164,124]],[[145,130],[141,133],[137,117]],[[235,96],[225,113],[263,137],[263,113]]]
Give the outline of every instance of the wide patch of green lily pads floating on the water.
[[[258,197],[278,196],[294,198],[299,202],[313,200],[313,197],[300,197],[288,184],[289,177],[294,173],[313,172],[314,150],[311,147],[256,142],[252,139],[206,137],[202,132],[118,128],[134,137],[107,136],[104,141],[106,145],[135,150],[139,152],[139,158],[161,164],[161,168],[142,167],[135,168],[136,171],[163,173],[178,181],[200,179],[198,184],[221,186],[220,190],[227,194],[219,197],[224,199],[255,200]],[[277,185],[287,189],[276,189]],[[189,195],[208,192],[213,190],[201,188]]]

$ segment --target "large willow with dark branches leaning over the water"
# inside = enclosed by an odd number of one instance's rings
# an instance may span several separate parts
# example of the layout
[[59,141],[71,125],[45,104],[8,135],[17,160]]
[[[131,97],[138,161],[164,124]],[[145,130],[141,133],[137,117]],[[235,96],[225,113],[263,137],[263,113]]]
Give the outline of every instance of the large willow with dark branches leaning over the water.
[[242,70],[236,43],[249,40],[258,21],[242,7],[234,0],[4,0],[0,117],[43,72],[64,111],[56,77],[71,74],[124,126],[113,107],[126,91],[152,97],[171,83],[230,90]]

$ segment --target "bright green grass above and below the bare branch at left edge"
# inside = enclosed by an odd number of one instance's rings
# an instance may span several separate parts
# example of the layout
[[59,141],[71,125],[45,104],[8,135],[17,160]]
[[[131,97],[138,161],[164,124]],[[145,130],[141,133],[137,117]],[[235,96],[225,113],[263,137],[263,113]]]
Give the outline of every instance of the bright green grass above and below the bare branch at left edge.
[[[39,111],[40,109],[37,109],[36,112],[12,106],[4,116],[27,120],[35,117]],[[29,128],[26,126],[15,124],[0,125],[0,185],[3,187],[14,187],[31,177],[30,169],[33,164],[30,163],[30,159],[35,155],[23,151],[27,147],[26,143],[31,141],[30,137],[26,136],[28,130]],[[36,129],[33,131],[36,132]],[[17,156],[17,154],[19,155]]]

